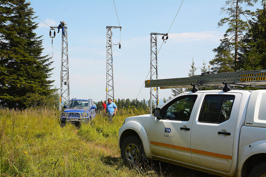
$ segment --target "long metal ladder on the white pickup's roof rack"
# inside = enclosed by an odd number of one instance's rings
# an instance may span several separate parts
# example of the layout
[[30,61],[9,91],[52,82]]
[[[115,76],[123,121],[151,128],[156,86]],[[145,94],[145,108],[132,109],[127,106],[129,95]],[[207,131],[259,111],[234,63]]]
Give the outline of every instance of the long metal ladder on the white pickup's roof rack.
[[259,86],[266,85],[266,70],[216,74],[213,74],[212,72],[204,72],[201,75],[195,75],[192,77],[145,81],[145,87],[160,87],[160,89],[195,87],[193,89],[194,91],[197,91],[197,87],[223,87],[224,85],[226,87],[223,89],[224,91],[229,91],[231,88],[230,86],[239,85],[266,88],[265,86]]

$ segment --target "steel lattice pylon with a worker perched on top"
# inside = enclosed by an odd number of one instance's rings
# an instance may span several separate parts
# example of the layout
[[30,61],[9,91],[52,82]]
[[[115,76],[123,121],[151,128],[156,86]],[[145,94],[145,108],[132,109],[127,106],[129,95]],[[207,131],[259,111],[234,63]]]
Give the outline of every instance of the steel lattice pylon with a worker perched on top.
[[62,109],[63,102],[69,102],[69,72],[68,72],[68,49],[67,49],[67,27],[65,27],[65,35],[62,32],[62,52],[61,52],[61,73],[60,73],[60,107]]

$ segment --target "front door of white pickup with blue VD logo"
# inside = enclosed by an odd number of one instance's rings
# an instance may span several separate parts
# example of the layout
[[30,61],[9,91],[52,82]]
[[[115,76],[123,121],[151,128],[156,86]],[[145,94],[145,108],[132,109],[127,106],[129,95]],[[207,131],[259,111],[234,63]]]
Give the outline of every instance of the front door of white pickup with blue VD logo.
[[153,118],[150,143],[155,156],[192,164],[190,135],[201,95],[182,94],[161,108],[160,119]]

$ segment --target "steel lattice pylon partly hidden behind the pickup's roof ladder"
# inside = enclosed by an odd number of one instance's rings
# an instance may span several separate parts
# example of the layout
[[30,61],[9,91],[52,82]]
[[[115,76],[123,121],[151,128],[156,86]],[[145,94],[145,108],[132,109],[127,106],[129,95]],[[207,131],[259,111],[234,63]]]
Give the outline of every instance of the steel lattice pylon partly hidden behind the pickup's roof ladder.
[[[150,33],[150,80],[158,79],[157,35],[168,34]],[[150,113],[153,111],[153,105],[156,108],[159,106],[158,87],[150,87]]]

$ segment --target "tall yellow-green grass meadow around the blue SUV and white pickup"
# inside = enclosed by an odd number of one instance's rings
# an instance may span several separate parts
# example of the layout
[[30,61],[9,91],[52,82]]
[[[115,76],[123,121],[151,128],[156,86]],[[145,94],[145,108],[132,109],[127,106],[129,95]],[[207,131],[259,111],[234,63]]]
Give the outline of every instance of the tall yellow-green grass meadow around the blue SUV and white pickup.
[[145,114],[122,109],[110,124],[102,113],[89,124],[61,127],[54,109],[0,108],[0,176],[213,177],[160,161],[123,163],[117,142],[126,117]]

